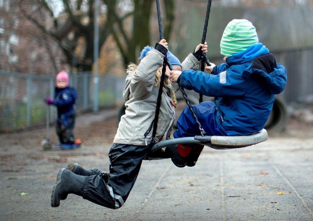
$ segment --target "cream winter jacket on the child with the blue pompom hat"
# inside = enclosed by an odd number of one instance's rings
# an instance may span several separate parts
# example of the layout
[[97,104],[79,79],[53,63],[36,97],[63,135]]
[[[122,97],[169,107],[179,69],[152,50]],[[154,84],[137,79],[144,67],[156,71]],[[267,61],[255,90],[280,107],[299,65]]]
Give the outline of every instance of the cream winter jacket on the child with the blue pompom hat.
[[[164,55],[157,50],[146,54],[136,70],[127,72],[126,86],[123,97],[126,100],[125,114],[121,117],[113,143],[146,145],[144,134],[152,123],[158,97],[159,85],[156,83],[156,71],[163,64]],[[198,60],[192,53],[182,63],[182,69],[197,70]],[[175,83],[176,84],[176,83]],[[171,96],[164,90],[160,106],[159,119],[155,139],[167,140],[170,138],[172,125],[175,120],[175,110]],[[147,143],[152,140],[152,129],[147,135]]]

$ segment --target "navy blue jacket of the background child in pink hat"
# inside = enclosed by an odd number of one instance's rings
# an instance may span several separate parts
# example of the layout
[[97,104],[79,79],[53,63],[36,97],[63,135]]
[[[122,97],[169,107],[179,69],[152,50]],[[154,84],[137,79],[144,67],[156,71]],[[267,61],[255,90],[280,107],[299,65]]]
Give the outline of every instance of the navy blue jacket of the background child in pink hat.
[[54,90],[54,99],[52,104],[58,108],[58,120],[67,121],[68,118],[75,115],[74,104],[77,99],[77,93],[74,88],[57,88]]

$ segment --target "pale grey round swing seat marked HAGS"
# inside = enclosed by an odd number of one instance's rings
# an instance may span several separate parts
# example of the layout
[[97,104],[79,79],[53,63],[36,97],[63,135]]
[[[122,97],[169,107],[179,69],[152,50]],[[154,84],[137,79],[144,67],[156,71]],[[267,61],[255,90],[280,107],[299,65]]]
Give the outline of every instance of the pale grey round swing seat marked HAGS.
[[261,143],[267,140],[267,131],[262,129],[261,131],[244,136],[194,136],[194,137],[182,137],[170,140],[163,140],[156,143],[151,151],[167,147],[175,144],[202,144],[217,150],[235,149],[248,147],[257,143]]

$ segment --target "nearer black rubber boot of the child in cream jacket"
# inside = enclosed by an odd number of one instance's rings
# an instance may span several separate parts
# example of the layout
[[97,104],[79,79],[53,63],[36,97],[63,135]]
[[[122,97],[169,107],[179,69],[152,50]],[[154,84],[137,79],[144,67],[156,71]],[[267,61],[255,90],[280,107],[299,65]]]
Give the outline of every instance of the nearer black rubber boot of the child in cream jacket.
[[61,168],[51,194],[51,206],[58,207],[61,199],[66,199],[69,193],[83,196],[85,177]]

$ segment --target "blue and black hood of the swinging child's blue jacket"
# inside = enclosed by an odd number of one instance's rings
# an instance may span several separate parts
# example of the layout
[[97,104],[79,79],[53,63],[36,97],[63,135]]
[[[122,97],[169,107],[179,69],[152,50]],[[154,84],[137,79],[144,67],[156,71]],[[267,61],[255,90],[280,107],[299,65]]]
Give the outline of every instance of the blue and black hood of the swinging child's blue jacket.
[[264,84],[271,94],[281,93],[287,83],[286,68],[276,63],[273,54],[258,43],[247,50],[234,54],[226,59],[228,66],[249,63],[242,73],[243,79],[256,77]]

